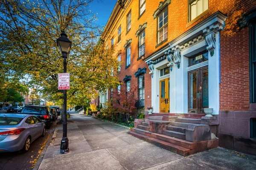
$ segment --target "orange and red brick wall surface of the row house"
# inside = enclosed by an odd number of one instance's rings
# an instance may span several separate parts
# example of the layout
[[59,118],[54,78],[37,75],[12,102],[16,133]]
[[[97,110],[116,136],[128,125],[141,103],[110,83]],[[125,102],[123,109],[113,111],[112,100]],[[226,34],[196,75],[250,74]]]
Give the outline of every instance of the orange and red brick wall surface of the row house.
[[[114,37],[116,51],[121,50],[122,66],[118,75],[123,82],[125,75],[131,75],[131,85],[137,85],[134,73],[138,68],[147,68],[145,74],[145,106],[151,105],[151,76],[146,63],[138,57],[138,37],[135,36],[140,24],[147,22],[145,28],[145,58],[159,48],[174,40],[202,20],[216,11],[227,15],[226,27],[221,31],[221,84],[220,84],[220,110],[243,111],[249,109],[249,39],[248,28],[239,30],[236,21],[241,14],[256,7],[256,0],[209,0],[209,12],[198,20],[187,23],[188,0],[172,0],[168,6],[168,41],[156,48],[157,45],[157,19],[153,14],[161,0],[147,0],[145,13],[139,17],[139,0],[131,0],[125,10],[121,9],[110,31],[104,37],[105,42],[111,45]],[[126,34],[126,15],[131,10],[131,30]],[[122,26],[121,42],[118,40],[118,28]],[[131,42],[131,66],[125,69],[126,40]],[[125,84],[121,85],[125,88]],[[148,98],[149,96],[149,98]]]

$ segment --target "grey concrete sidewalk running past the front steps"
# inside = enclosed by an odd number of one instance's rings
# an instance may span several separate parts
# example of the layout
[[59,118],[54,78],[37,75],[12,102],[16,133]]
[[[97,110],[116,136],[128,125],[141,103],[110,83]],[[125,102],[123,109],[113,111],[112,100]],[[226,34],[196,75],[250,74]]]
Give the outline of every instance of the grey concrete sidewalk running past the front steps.
[[47,148],[40,170],[255,170],[256,156],[224,148],[183,157],[129,135],[128,129],[71,114],[69,153],[60,153],[62,125]]

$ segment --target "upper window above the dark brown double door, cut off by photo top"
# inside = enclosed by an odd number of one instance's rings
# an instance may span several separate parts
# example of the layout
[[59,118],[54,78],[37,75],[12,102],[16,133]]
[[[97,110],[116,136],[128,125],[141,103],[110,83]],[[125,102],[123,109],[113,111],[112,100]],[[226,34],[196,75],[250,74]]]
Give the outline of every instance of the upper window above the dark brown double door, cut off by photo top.
[[208,9],[208,0],[189,0],[189,21]]

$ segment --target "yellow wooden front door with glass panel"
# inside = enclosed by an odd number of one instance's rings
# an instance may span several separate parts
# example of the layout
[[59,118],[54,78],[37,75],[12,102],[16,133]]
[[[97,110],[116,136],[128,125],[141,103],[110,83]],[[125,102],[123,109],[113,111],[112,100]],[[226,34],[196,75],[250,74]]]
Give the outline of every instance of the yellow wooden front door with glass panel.
[[160,80],[160,113],[170,112],[170,78]]

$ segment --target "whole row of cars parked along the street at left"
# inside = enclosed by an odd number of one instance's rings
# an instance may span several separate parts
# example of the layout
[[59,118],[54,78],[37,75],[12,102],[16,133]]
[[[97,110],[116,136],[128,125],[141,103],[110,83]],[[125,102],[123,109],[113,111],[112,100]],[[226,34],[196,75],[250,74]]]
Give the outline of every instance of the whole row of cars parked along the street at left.
[[60,115],[56,107],[26,105],[16,110],[7,109],[18,113],[0,113],[0,152],[28,151],[30,144],[44,136],[46,128]]

